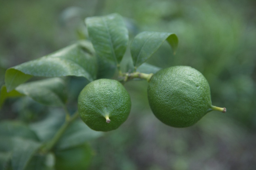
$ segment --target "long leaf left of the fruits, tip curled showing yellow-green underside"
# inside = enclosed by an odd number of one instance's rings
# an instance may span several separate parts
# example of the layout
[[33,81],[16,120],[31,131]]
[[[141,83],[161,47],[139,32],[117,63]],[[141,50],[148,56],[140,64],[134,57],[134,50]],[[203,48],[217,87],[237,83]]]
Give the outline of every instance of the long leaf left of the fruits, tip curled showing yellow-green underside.
[[11,67],[5,74],[7,91],[33,76],[77,76],[92,81],[97,73],[97,62],[93,53],[91,43],[80,41],[47,56]]

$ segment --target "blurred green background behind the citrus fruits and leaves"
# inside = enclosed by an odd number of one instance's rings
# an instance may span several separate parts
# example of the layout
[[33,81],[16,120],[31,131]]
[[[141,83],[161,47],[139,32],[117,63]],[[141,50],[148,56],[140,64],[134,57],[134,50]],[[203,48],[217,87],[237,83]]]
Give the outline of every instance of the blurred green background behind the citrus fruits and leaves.
[[[86,38],[84,18],[117,12],[130,38],[141,31],[174,32],[148,60],[158,67],[188,65],[209,81],[210,112],[189,128],[157,120],[147,102],[147,82],[128,82],[132,111],[117,130],[92,141],[89,169],[256,169],[255,0],[5,0],[0,2],[0,85],[7,68]],[[77,80],[77,82],[83,82]],[[70,106],[77,92],[70,87]],[[84,86],[84,84],[80,84]],[[49,108],[27,98],[9,99],[0,119],[40,119]],[[51,108],[50,108],[51,109]]]

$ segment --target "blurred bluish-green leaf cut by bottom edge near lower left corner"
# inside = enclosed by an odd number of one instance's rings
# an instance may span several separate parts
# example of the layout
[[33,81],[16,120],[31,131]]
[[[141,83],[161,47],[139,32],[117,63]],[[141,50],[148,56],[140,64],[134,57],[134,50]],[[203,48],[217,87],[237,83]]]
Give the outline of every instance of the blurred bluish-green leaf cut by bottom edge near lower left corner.
[[12,168],[15,170],[25,169],[39,147],[40,143],[38,142],[16,138],[11,158]]

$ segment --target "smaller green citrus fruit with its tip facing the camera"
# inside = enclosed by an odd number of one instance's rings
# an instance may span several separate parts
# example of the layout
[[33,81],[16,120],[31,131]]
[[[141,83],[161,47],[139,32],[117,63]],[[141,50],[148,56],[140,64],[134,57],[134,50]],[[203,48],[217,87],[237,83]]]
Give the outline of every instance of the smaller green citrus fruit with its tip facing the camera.
[[128,118],[130,109],[129,93],[117,80],[92,81],[84,87],[78,97],[81,119],[96,131],[117,129]]

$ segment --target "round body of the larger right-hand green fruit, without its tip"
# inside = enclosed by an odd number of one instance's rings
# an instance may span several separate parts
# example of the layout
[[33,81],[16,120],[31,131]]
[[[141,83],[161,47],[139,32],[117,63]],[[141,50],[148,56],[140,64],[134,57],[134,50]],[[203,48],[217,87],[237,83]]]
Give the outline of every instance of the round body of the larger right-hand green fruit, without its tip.
[[189,66],[159,70],[150,79],[148,101],[155,116],[172,127],[189,127],[212,110],[208,81]]

